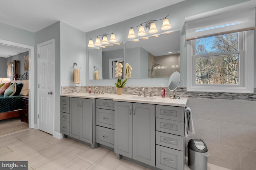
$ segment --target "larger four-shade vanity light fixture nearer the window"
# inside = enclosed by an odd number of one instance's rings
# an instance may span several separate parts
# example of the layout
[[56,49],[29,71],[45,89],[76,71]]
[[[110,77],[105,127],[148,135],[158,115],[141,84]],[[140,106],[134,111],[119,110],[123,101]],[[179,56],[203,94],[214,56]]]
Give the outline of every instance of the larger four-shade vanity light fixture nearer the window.
[[[168,16],[169,16],[169,15],[168,15]],[[162,27],[161,27],[161,30],[163,30],[163,31],[166,31],[166,30],[168,30],[168,29],[171,29],[171,25],[170,25],[169,20],[168,20],[168,18],[167,18],[168,16],[166,16],[166,17],[160,19],[160,20],[164,20],[164,21],[163,21],[163,24],[162,24]],[[139,31],[138,31],[137,35],[140,36],[140,37],[146,35],[144,26],[142,25],[142,24],[144,24],[144,23],[146,23],[146,24],[145,24],[145,28],[146,28],[146,29],[149,29],[148,33],[151,33],[151,34],[157,33],[157,32],[158,32],[158,29],[156,28],[156,23],[155,23],[155,21],[160,21],[160,20],[150,20],[150,21],[147,21],[147,22],[140,23],[140,25],[138,25],[138,26],[140,26],[140,27],[139,27]],[[136,26],[136,27],[138,27],[138,26]],[[134,33],[134,28],[136,28],[136,27],[130,27],[130,29],[129,29],[129,34],[128,34],[128,38],[133,39],[133,38],[136,37],[136,35],[135,35],[135,33]]]

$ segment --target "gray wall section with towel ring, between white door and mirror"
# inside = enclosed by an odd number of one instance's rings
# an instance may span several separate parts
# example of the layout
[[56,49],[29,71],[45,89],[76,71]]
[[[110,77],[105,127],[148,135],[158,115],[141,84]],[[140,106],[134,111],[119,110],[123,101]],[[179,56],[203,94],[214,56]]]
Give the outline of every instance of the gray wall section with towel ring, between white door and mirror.
[[[85,86],[85,33],[60,21],[60,85]],[[80,68],[80,84],[72,83],[73,63]]]

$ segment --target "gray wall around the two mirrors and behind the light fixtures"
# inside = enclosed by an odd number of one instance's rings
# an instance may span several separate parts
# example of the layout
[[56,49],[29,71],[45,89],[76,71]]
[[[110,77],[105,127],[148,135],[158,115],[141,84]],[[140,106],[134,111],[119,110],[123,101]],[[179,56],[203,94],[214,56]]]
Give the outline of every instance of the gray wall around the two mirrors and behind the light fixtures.
[[[180,73],[181,79],[184,80],[184,84],[186,84],[186,41],[185,41],[185,18],[188,16],[193,16],[196,14],[201,14],[204,12],[208,12],[211,10],[216,10],[219,8],[223,8],[226,6],[238,4],[241,2],[246,2],[247,0],[186,0],[180,2],[178,4],[174,4],[172,6],[168,6],[166,8],[162,8],[160,10],[156,10],[154,12],[150,12],[148,14],[144,14],[142,16],[138,16],[136,18],[132,18],[130,20],[122,21],[113,25],[109,25],[107,27],[102,27],[100,29],[96,29],[86,33],[86,37],[95,37],[97,35],[101,35],[105,32],[115,31],[116,39],[118,42],[126,42],[130,41],[127,38],[128,28],[129,26],[133,26],[148,20],[163,18],[167,14],[170,14],[169,21],[172,25],[172,31],[181,30],[181,51],[180,51]],[[160,27],[160,26],[158,26]],[[86,39],[86,45],[88,44],[89,39]],[[88,47],[87,47],[88,48]],[[88,56],[86,56],[86,60],[88,60]],[[88,65],[86,65],[88,68]],[[255,76],[256,77],[256,74]],[[115,80],[97,80],[92,81],[88,79],[88,73],[86,74],[86,84],[91,84],[93,86],[100,86],[104,84],[105,86],[112,86],[115,83]],[[254,78],[256,79],[256,78]],[[127,86],[144,86],[145,84],[149,84],[150,86],[161,86],[160,84],[167,84],[167,78],[158,78],[158,79],[130,79],[127,81]],[[254,80],[254,82],[256,82]],[[254,83],[256,86],[256,83]]]

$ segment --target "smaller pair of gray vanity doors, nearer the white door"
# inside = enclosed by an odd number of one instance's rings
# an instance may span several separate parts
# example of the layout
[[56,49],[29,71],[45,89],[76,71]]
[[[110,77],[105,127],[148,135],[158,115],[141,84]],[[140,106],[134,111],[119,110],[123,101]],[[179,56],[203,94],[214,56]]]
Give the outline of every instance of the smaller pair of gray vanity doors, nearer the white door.
[[93,100],[70,97],[69,136],[92,144]]

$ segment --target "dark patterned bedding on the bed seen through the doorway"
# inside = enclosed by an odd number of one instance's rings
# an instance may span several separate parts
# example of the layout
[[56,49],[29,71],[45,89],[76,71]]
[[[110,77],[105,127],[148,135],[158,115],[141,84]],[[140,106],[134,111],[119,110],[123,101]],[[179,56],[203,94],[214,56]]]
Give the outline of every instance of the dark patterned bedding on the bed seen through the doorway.
[[22,99],[20,96],[8,96],[0,95],[0,113],[7,111],[14,111],[22,109]]

